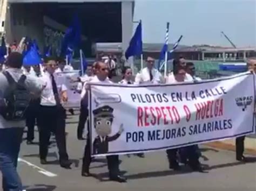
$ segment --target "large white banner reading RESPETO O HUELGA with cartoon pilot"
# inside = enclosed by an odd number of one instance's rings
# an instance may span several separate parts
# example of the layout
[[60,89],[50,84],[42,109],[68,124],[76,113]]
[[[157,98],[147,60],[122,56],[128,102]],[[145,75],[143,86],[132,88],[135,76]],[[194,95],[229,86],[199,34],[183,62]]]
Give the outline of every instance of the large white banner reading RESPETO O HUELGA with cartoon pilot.
[[254,132],[254,75],[198,83],[91,84],[93,156],[166,150]]

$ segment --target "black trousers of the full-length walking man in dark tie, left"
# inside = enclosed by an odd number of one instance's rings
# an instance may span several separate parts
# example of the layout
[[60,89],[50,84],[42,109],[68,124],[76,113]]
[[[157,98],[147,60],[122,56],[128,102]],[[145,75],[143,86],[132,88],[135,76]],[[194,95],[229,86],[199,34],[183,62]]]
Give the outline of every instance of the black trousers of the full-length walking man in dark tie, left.
[[51,132],[55,134],[59,151],[59,161],[69,159],[66,152],[65,109],[60,106],[40,106],[39,119],[39,155],[46,159]]

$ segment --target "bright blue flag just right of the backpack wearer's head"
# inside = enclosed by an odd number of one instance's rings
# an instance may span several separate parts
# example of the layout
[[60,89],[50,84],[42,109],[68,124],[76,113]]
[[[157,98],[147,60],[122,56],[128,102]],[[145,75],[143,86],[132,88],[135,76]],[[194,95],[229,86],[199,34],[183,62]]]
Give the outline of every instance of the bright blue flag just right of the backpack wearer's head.
[[42,60],[38,54],[37,49],[35,49],[35,47],[31,46],[29,51],[27,51],[23,57],[23,66],[38,65],[41,62],[42,62]]

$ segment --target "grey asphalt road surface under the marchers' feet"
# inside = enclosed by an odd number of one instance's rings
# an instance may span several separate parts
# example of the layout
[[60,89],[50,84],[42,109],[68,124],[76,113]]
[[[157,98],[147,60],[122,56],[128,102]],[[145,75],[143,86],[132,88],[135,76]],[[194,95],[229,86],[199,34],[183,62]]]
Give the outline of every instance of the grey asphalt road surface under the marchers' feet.
[[[211,191],[211,190],[256,190],[256,155],[249,153],[251,162],[246,164],[235,160],[235,153],[220,148],[200,145],[206,167],[205,173],[191,172],[183,166],[182,171],[169,170],[164,151],[150,152],[145,158],[131,155],[120,157],[120,169],[128,178],[127,183],[112,182],[107,179],[105,158],[97,158],[91,165],[93,177],[80,176],[85,141],[78,141],[76,128],[78,115],[68,116],[66,132],[72,169],[58,165],[56,144],[50,145],[48,160],[51,164],[41,165],[38,158],[38,145],[26,145],[19,155],[18,172],[26,190],[138,190],[138,191]],[[38,143],[38,133],[35,133]],[[24,135],[24,138],[26,135]],[[1,176],[1,174],[0,174]],[[0,177],[1,178],[1,177]],[[1,183],[1,179],[0,179]],[[1,188],[0,188],[1,190]]]

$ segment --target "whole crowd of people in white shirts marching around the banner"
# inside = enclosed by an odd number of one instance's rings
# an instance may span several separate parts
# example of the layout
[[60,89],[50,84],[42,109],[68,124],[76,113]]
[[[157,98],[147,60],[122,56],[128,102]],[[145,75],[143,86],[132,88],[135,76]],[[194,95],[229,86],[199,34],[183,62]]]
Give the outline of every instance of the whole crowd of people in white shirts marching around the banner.
[[[124,67],[121,84],[158,84],[158,83],[180,83],[201,81],[195,74],[192,62],[186,62],[183,57],[174,59],[172,72],[164,78],[154,68],[155,60],[151,57],[146,59],[146,67],[136,74],[133,80],[132,68]],[[256,71],[256,60],[248,61],[250,70]],[[59,165],[70,168],[72,162],[69,160],[66,148],[65,118],[66,110],[62,103],[68,101],[65,84],[56,83],[56,73],[63,71],[66,66],[64,60],[52,56],[46,57],[42,65],[23,67],[23,56],[18,52],[11,52],[6,58],[6,66],[0,73],[0,95],[1,99],[9,92],[10,79],[21,85],[20,79],[25,80],[22,85],[30,93],[30,103],[26,108],[25,118],[20,120],[7,119],[0,115],[0,170],[3,175],[3,190],[22,190],[22,182],[19,179],[17,159],[22,143],[23,130],[28,127],[26,143],[32,144],[34,139],[34,127],[37,124],[39,130],[39,156],[42,165],[48,164],[48,147],[50,137],[55,136],[58,152]],[[114,61],[97,60],[93,65],[87,66],[86,74],[78,79],[72,79],[78,83],[78,91],[81,95],[79,123],[77,127],[77,138],[83,140],[84,128],[89,115],[88,110],[88,83],[114,83],[111,81],[111,70],[116,67]],[[70,70],[72,68],[68,68]],[[33,71],[33,72],[31,72]],[[38,115],[40,113],[40,115]],[[89,123],[87,123],[89,124]],[[90,164],[92,161],[90,151],[89,125],[87,125],[86,145],[82,165],[82,176],[90,176]],[[237,160],[246,160],[243,155],[244,137],[237,138]],[[200,150],[198,145],[186,146],[166,150],[169,168],[179,171],[180,163],[188,165],[193,171],[203,172],[204,168],[199,162]],[[144,158],[144,153],[136,154]],[[180,156],[178,158],[178,156]],[[130,157],[130,155],[128,156]],[[119,156],[109,155],[107,166],[109,178],[113,181],[126,182],[126,178],[119,171]]]

